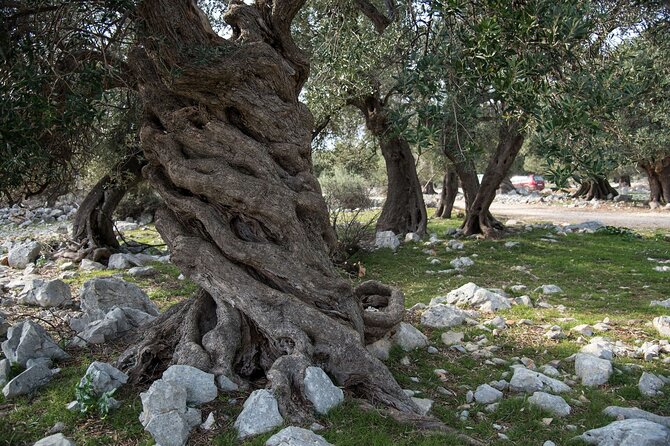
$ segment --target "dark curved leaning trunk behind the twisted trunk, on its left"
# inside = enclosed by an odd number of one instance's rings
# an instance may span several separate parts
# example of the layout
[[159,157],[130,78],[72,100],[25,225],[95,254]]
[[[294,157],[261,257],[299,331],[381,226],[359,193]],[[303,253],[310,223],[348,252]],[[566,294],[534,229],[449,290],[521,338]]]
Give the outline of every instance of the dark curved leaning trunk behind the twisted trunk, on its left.
[[114,210],[126,192],[142,179],[144,164],[138,155],[123,160],[81,202],[72,224],[72,237],[81,246],[83,256],[90,257],[98,248],[119,248],[112,219]]

